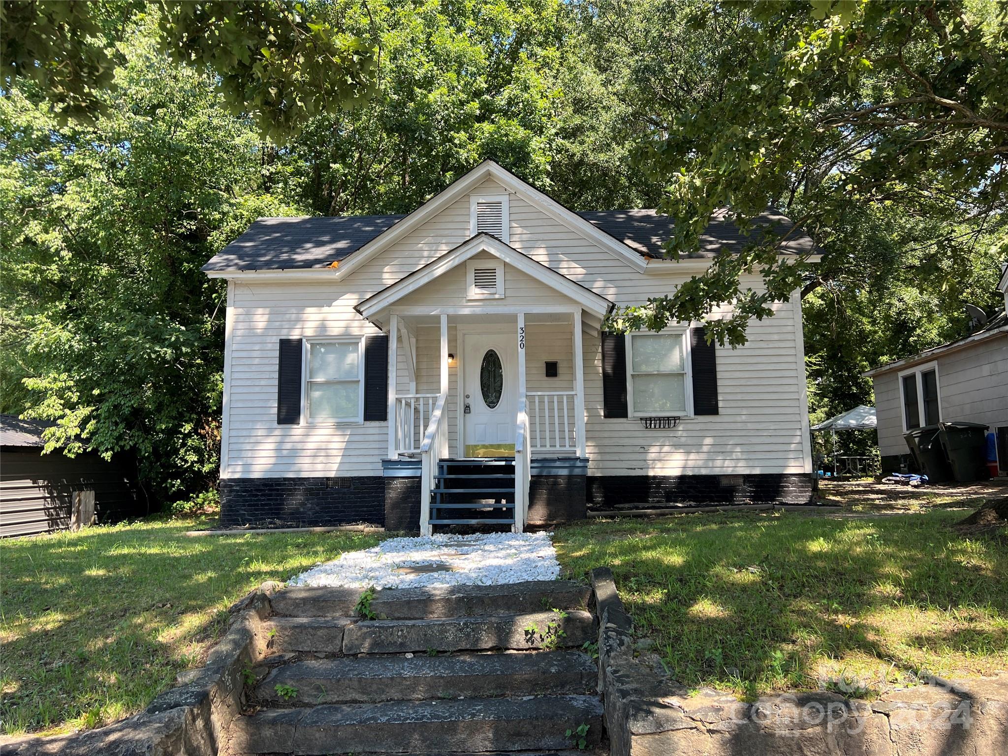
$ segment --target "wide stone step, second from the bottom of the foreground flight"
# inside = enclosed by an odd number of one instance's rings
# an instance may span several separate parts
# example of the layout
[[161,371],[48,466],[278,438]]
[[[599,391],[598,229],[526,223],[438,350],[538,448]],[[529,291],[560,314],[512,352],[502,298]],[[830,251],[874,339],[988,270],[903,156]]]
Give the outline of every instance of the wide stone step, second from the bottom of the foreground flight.
[[[581,651],[348,656],[274,669],[259,683],[256,697],[268,706],[290,707],[587,694],[598,677],[595,662]],[[276,685],[297,694],[284,701]]]

